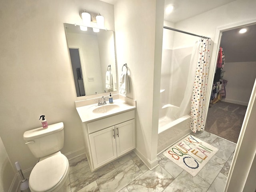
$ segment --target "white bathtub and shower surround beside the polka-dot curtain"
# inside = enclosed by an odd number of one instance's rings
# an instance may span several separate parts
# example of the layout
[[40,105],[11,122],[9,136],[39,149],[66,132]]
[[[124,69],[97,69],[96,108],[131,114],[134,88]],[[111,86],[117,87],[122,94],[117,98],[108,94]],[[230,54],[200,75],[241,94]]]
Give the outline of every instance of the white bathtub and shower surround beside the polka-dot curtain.
[[158,154],[191,133],[190,115],[179,116],[193,47],[163,49],[158,122]]

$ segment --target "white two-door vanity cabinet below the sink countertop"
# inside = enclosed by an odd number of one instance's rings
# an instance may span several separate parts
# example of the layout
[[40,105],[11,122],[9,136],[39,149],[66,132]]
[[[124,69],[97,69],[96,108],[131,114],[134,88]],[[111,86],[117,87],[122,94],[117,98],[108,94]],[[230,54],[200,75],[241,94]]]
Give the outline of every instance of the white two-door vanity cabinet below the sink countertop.
[[134,118],[135,111],[131,110],[87,123],[86,156],[92,171],[135,148]]

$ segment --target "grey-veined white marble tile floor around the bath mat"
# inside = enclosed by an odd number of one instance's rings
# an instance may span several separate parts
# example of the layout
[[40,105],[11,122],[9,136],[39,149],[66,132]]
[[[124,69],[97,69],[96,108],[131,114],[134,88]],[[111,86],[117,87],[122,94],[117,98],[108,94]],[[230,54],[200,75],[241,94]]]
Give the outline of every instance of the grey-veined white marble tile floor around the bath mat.
[[106,166],[90,171],[85,155],[70,160],[70,192],[222,192],[236,144],[209,132],[192,135],[219,148],[195,176],[191,176],[164,155],[149,170],[130,152]]

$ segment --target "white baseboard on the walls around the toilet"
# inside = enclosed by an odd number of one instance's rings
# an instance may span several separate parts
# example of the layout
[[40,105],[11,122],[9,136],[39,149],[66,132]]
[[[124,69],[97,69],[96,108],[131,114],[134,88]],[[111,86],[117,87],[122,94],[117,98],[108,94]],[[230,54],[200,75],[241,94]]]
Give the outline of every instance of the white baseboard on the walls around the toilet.
[[[68,160],[71,160],[73,158],[76,158],[77,156],[80,156],[82,154],[85,153],[85,149],[84,147],[81,147],[77,150],[74,150],[72,152],[69,152],[67,154],[64,154]],[[29,169],[26,169],[23,171],[23,174],[24,174],[24,177],[25,178],[29,178],[30,176],[30,173],[32,171],[33,167],[32,168],[29,168]],[[8,190],[8,192],[20,192],[20,183],[21,183],[21,178],[20,178],[20,174],[16,174],[12,180],[12,184],[10,186],[10,189]]]

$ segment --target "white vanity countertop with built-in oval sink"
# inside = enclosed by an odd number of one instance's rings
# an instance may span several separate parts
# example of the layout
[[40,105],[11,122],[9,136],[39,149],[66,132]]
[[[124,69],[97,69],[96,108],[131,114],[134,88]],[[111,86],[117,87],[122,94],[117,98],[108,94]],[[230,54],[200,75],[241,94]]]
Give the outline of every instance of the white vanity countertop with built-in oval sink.
[[[97,109],[100,109],[101,107],[105,108],[104,106],[106,106],[106,108],[110,106],[111,108],[111,105],[115,105],[116,108],[113,108],[112,110],[109,110],[109,111],[97,110]],[[109,102],[101,106],[98,106],[98,104],[91,104],[91,105],[76,107],[76,110],[82,122],[91,122],[91,121],[106,118],[108,116],[112,116],[115,114],[120,114],[122,112],[130,111],[135,108],[136,108],[135,105],[129,105],[126,102],[124,102],[124,100],[117,99],[117,100],[114,100],[112,104],[110,104]],[[93,112],[93,111],[97,111],[97,112]]]

